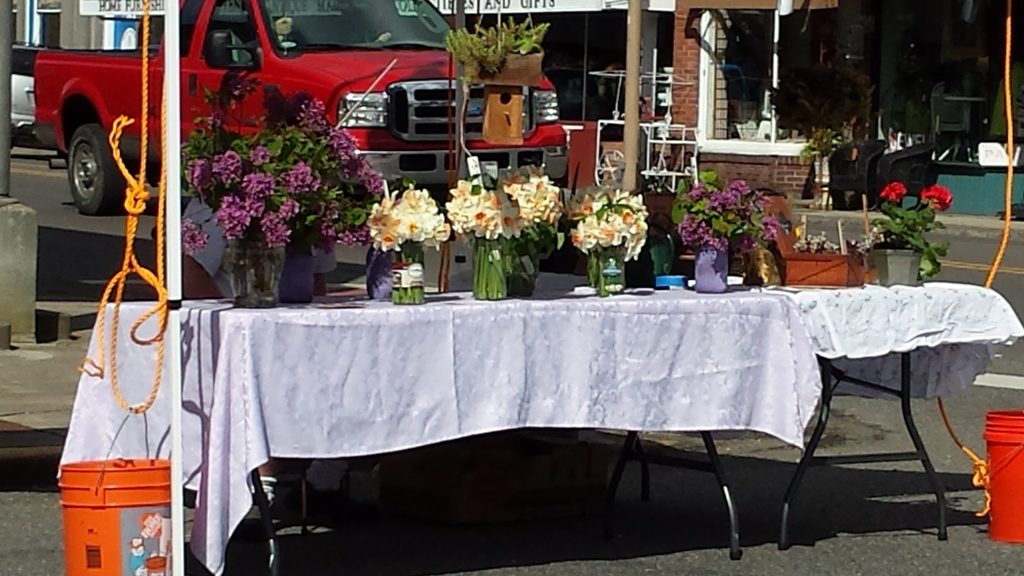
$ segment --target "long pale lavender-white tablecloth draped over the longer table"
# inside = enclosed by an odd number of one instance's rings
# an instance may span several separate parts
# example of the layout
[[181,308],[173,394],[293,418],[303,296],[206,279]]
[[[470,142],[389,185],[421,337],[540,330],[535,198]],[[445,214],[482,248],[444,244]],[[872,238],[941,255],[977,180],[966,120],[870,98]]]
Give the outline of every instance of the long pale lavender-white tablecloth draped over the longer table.
[[[182,311],[191,546],[214,573],[250,509],[249,474],[271,455],[354,457],[520,427],[748,429],[802,446],[820,396],[796,301],[778,294],[360,306]],[[143,310],[124,306],[122,334]],[[153,351],[124,347],[119,361],[141,400]],[[62,462],[166,457],[168,397],[126,419],[108,382],[84,375]]]

